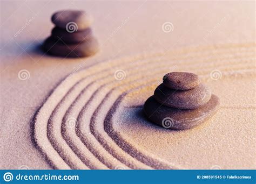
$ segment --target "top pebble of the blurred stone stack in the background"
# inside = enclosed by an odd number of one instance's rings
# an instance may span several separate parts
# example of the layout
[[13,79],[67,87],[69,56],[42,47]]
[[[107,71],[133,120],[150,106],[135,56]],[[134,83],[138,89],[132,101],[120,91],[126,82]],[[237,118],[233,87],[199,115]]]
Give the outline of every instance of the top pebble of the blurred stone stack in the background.
[[51,20],[56,26],[67,29],[70,32],[85,30],[93,22],[93,18],[90,15],[80,10],[57,11],[52,15]]

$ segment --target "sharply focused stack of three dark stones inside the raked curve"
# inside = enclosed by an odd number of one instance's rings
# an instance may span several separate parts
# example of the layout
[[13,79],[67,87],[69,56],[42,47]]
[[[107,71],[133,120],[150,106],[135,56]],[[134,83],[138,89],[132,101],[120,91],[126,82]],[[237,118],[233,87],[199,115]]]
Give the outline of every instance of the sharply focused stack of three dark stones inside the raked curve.
[[163,83],[146,100],[144,112],[164,128],[184,130],[205,122],[218,107],[219,98],[200,82],[198,75],[172,72],[163,77]]

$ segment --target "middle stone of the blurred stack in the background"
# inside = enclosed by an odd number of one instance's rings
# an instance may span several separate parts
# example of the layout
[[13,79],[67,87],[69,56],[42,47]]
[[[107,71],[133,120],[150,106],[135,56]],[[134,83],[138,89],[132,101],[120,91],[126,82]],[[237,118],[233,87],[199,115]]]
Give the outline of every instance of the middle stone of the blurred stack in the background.
[[80,43],[85,41],[87,38],[92,37],[92,30],[87,28],[83,31],[77,31],[70,33],[66,29],[60,29],[59,27],[54,27],[51,31],[51,35],[55,39],[62,39],[65,43]]

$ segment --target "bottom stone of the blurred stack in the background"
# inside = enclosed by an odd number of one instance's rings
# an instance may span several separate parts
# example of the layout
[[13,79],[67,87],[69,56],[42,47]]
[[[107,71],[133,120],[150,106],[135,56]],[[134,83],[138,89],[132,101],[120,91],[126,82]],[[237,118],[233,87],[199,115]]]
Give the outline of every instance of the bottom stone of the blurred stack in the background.
[[98,41],[94,37],[82,43],[69,45],[64,44],[62,40],[49,37],[45,40],[43,47],[46,53],[70,58],[90,56],[99,51]]

